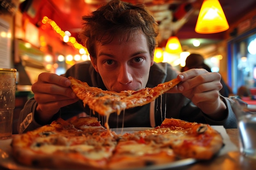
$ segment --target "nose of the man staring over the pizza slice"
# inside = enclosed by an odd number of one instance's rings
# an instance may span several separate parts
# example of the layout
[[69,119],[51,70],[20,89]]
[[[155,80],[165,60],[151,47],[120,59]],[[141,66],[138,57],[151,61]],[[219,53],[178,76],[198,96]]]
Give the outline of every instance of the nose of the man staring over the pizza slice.
[[129,84],[132,82],[132,75],[131,75],[131,69],[129,68],[128,65],[124,64],[119,67],[117,70],[118,77],[117,77],[117,82],[120,84]]

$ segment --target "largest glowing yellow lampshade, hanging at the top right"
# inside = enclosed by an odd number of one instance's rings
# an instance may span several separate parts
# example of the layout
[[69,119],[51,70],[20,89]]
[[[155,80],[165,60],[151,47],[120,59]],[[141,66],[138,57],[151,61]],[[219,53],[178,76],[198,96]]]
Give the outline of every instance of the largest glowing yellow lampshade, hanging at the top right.
[[218,33],[229,29],[229,24],[218,0],[204,0],[195,26],[197,33]]

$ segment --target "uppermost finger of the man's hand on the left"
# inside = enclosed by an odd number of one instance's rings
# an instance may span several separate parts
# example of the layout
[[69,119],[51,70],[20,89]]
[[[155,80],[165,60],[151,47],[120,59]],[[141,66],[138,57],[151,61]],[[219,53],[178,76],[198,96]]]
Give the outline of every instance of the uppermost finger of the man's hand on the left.
[[38,75],[38,81],[44,83],[58,84],[63,87],[68,87],[71,85],[69,79],[56,75],[54,73],[40,73],[40,75]]

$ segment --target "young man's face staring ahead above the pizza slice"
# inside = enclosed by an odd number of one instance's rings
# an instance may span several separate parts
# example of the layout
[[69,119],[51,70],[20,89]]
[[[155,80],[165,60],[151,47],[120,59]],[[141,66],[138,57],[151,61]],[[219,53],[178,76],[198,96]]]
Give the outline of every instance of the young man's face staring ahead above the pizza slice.
[[92,64],[102,77],[108,91],[139,90],[148,82],[153,56],[142,32],[133,40],[119,42],[115,38],[109,44],[97,44],[97,61]]

